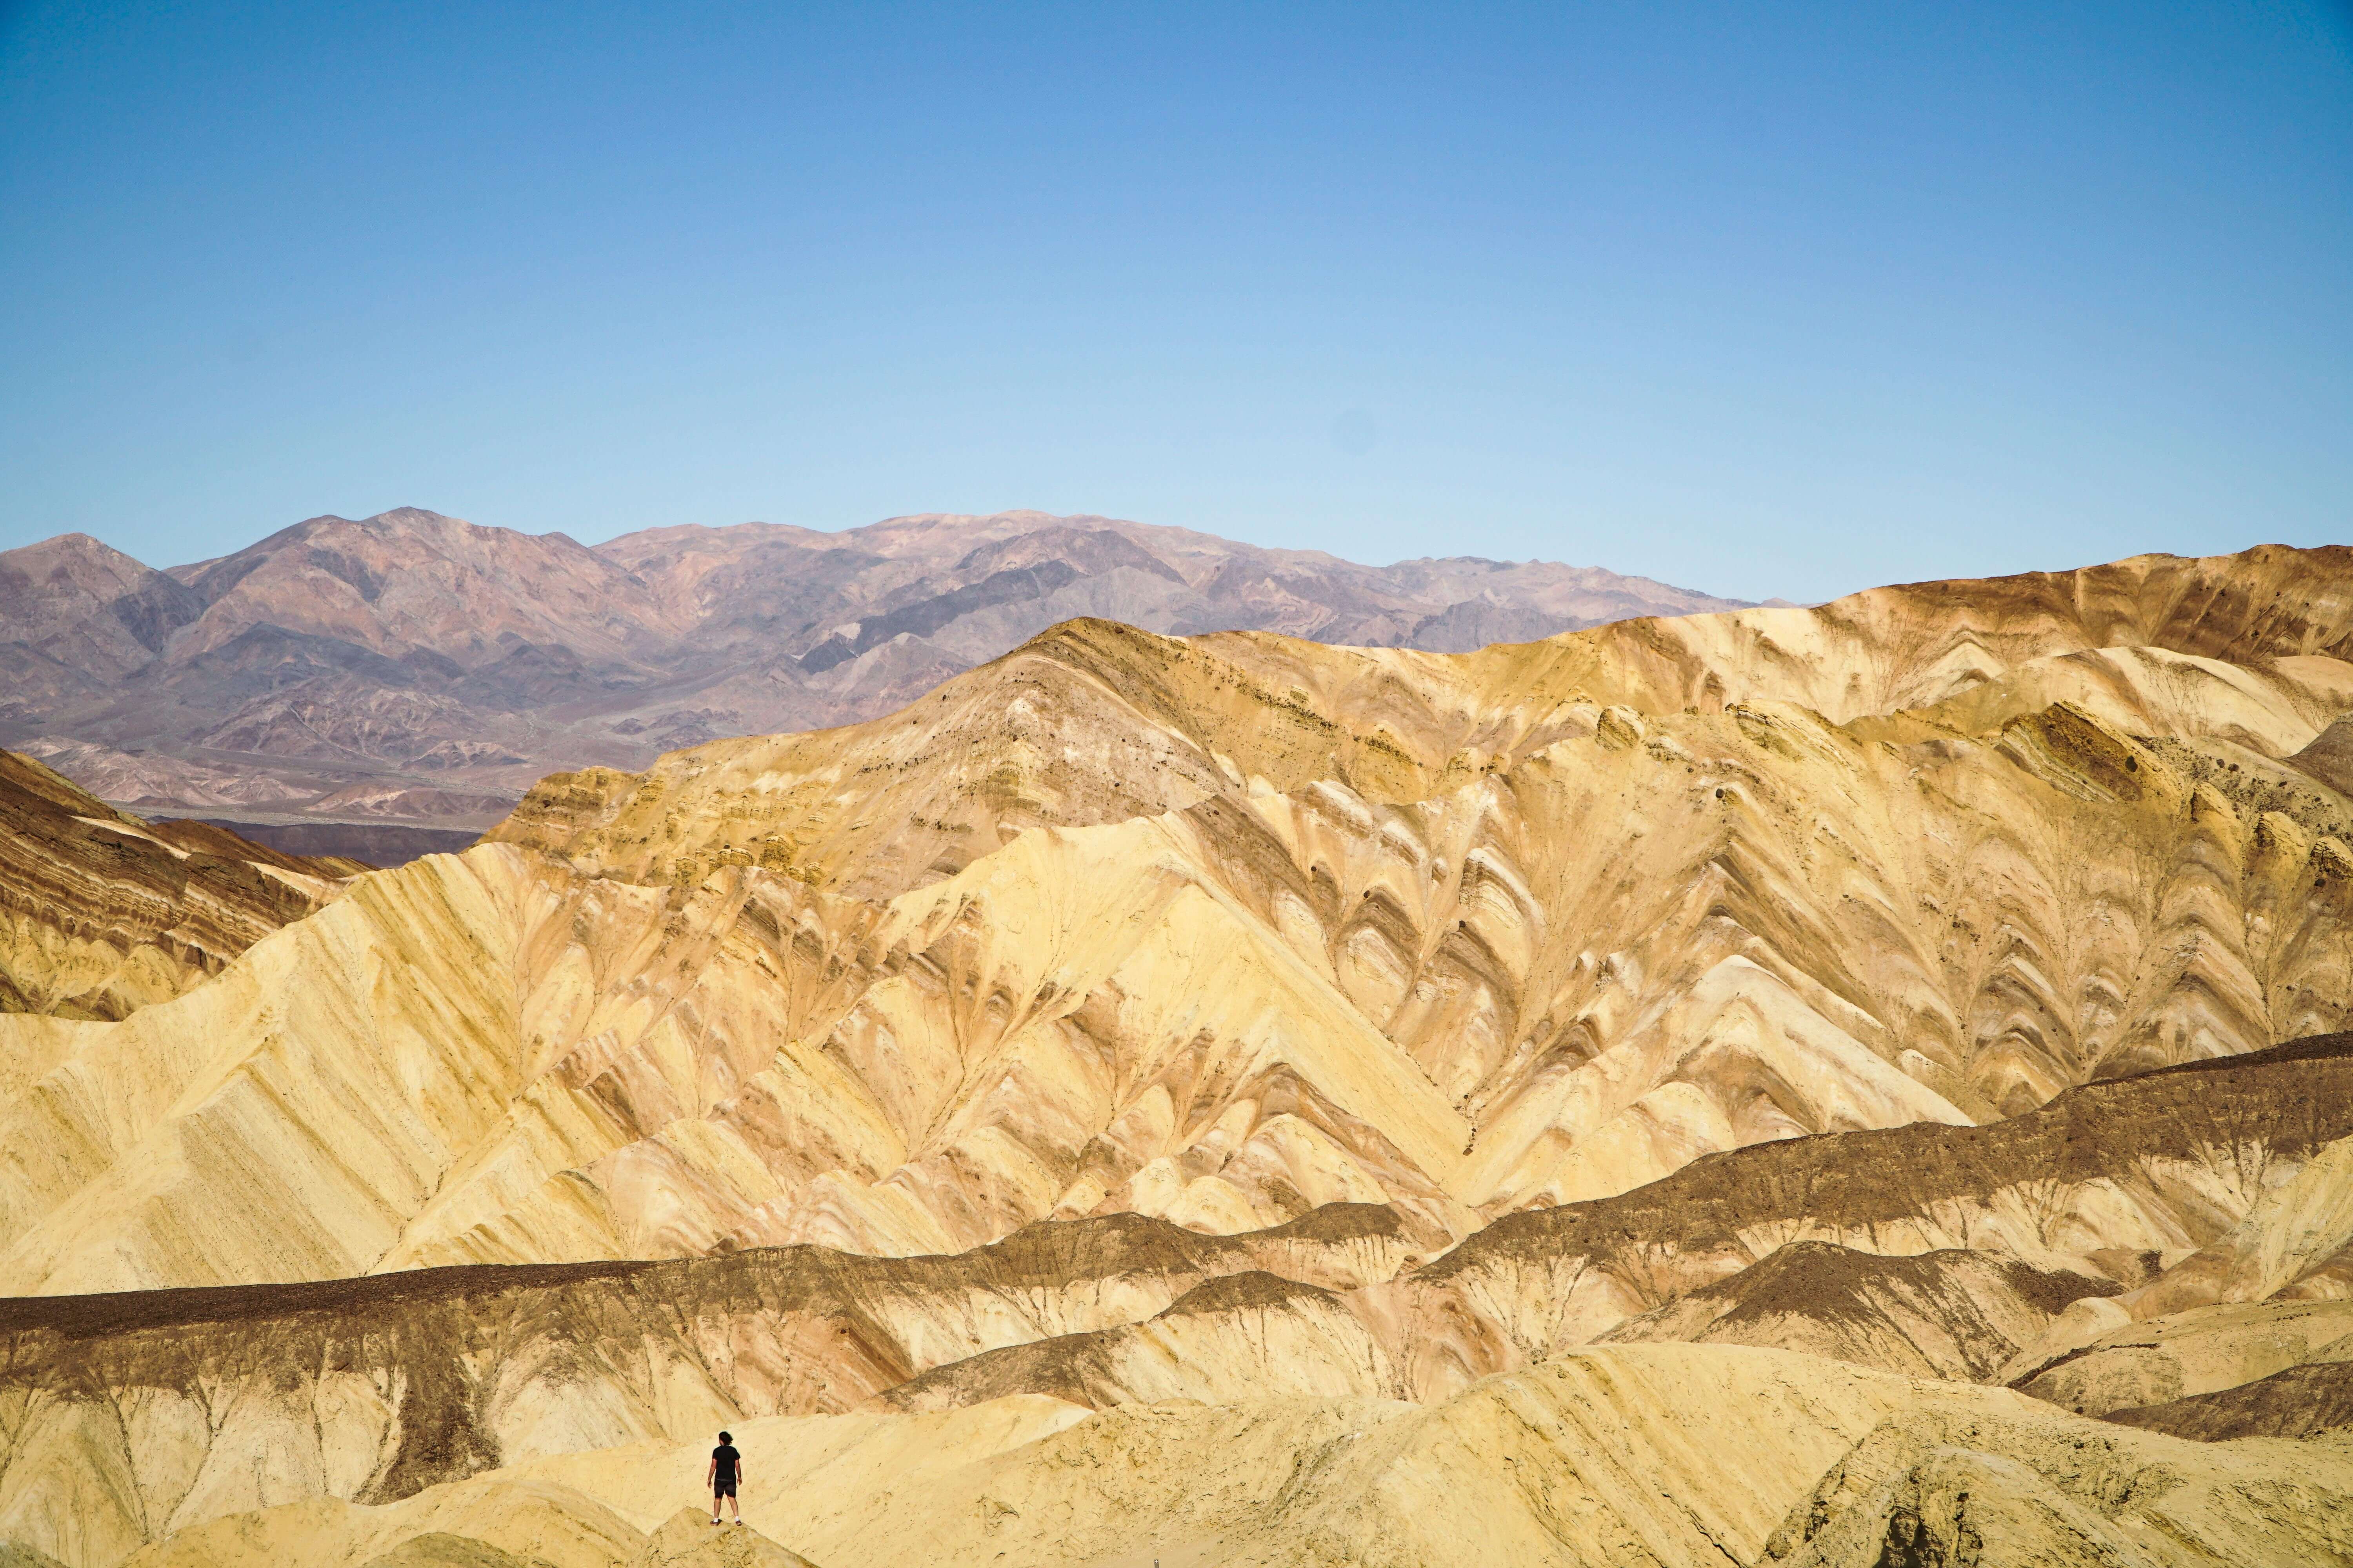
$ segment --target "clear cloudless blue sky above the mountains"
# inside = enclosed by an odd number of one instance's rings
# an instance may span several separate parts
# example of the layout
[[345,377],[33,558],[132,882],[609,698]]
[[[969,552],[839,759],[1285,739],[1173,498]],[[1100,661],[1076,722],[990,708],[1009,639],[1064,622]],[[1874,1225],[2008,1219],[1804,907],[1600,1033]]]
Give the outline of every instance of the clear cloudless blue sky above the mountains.
[[0,545],[2353,541],[2344,5],[0,0]]

